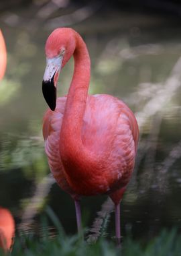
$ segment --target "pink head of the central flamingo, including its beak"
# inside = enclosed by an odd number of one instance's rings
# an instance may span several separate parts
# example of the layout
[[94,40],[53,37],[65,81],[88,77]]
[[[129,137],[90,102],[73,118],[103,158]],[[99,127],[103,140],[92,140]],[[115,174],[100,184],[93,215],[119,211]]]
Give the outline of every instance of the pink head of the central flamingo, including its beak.
[[56,86],[59,73],[74,54],[75,33],[71,28],[57,28],[46,41],[46,70],[42,82],[42,92],[51,110],[56,108]]

